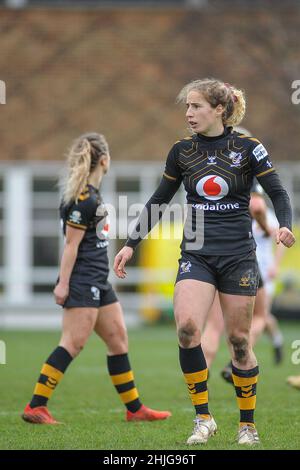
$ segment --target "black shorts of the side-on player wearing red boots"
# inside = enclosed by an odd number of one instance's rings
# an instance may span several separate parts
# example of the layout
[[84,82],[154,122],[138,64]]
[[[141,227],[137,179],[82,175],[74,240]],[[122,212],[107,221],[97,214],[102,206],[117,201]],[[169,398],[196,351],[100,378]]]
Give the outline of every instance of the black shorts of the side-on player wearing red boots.
[[97,286],[71,280],[69,296],[63,307],[99,308],[115,302],[118,302],[118,298],[109,282],[106,282],[104,286],[103,284]]

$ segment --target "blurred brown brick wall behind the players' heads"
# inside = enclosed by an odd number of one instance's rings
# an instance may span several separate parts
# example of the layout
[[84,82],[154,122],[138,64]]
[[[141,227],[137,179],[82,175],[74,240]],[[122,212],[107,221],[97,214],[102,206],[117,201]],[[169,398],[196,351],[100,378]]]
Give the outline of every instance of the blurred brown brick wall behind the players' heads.
[[96,130],[115,159],[163,160],[187,134],[181,86],[216,76],[246,90],[243,125],[273,159],[297,160],[298,11],[0,9],[0,158],[58,160]]

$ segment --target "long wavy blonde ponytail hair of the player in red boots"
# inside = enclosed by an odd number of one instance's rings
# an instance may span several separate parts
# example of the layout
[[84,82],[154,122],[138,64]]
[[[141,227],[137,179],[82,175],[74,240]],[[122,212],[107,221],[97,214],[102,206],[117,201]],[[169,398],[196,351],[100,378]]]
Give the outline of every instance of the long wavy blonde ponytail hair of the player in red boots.
[[109,155],[108,143],[102,134],[89,132],[76,139],[67,154],[67,175],[62,183],[63,203],[78,201],[90,173],[103,155]]

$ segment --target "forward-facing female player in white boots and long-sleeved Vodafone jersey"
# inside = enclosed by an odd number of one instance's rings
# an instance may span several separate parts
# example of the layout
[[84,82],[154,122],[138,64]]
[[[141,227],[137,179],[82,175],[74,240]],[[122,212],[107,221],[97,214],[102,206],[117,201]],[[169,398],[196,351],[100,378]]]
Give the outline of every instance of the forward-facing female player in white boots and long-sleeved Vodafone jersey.
[[[170,150],[161,183],[117,254],[114,270],[118,277],[125,277],[126,262],[157,221],[157,217],[151,220],[151,206],[169,203],[183,182],[192,220],[188,220],[189,230],[184,231],[181,244],[174,314],[180,365],[196,411],[187,443],[206,443],[217,431],[208,409],[201,331],[218,290],[240,409],[238,443],[252,445],[259,442],[254,425],[258,365],[249,341],[258,283],[248,209],[253,177],[272,200],[280,227],[277,241],[287,247],[295,242],[291,206],[265,147],[232,129],[245,114],[242,91],[215,79],[196,80],[181,90],[178,101],[186,104],[192,136],[176,142]],[[197,216],[198,211],[203,217]],[[197,234],[203,227],[197,225],[198,220],[204,222],[202,246]],[[196,243],[192,243],[190,235],[195,233]]]

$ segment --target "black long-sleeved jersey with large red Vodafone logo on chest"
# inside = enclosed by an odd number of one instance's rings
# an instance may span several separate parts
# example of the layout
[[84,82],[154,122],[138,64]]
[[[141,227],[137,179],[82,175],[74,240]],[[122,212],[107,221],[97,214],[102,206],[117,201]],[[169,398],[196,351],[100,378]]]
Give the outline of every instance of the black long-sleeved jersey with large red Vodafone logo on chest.
[[[290,228],[289,198],[266,149],[257,139],[234,132],[232,128],[225,128],[217,137],[195,134],[176,142],[167,157],[161,185],[145,209],[149,213],[151,204],[168,203],[183,182],[187,203],[192,208],[194,231],[197,211],[204,217],[204,243],[197,252],[208,255],[244,253],[256,246],[249,213],[254,177],[270,195],[280,226]],[[148,230],[152,227],[153,224],[148,224]],[[143,236],[131,235],[126,244],[134,248]],[[186,242],[183,238],[181,248],[190,251]]]

